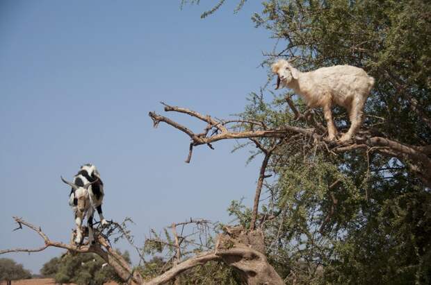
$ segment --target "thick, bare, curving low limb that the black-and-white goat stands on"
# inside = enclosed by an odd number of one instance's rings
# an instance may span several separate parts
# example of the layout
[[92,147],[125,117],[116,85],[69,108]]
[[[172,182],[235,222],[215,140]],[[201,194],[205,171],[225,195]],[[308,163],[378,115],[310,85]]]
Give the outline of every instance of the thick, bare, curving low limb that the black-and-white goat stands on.
[[[25,225],[31,230],[37,232],[42,237],[42,239],[44,239],[45,245],[35,250],[26,248],[1,250],[0,254],[5,254],[8,252],[42,251],[50,246],[64,248],[73,252],[92,252],[98,254],[109,265],[111,265],[124,281],[128,282],[129,280],[132,280],[136,284],[142,285],[165,284],[166,282],[169,282],[170,280],[177,277],[179,274],[195,266],[206,264],[206,262],[209,261],[223,261],[227,265],[241,270],[241,274],[247,281],[247,284],[263,284],[262,281],[269,282],[268,284],[283,284],[281,277],[279,277],[274,268],[268,264],[265,255],[252,248],[255,244],[263,243],[263,235],[261,232],[241,232],[241,235],[245,236],[245,238],[241,240],[236,239],[236,237],[220,234],[216,243],[217,245],[215,247],[215,251],[202,252],[201,254],[187,259],[186,261],[178,262],[172,268],[170,268],[170,270],[166,271],[162,275],[154,277],[151,280],[144,281],[143,277],[138,273],[138,270],[132,270],[127,261],[125,261],[120,254],[111,248],[109,241],[101,234],[96,234],[95,243],[93,243],[92,246],[78,247],[75,245],[67,245],[65,243],[51,241],[48,236],[42,232],[40,227],[35,227],[31,223],[24,221],[22,218],[14,217],[14,219],[19,224],[19,228],[22,228],[22,225]],[[172,227],[177,227],[177,225],[186,225],[188,223],[201,224],[207,222],[208,221],[206,220],[190,219],[190,221],[186,221],[184,223],[174,223],[172,224]],[[256,239],[259,240],[257,243],[254,242]],[[244,244],[243,241],[251,241],[251,243]]]

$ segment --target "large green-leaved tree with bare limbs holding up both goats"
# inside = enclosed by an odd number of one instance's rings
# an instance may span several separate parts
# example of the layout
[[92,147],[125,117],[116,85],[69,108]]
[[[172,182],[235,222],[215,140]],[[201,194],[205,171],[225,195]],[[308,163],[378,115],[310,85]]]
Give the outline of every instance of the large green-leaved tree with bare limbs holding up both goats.
[[[238,9],[246,4],[239,1]],[[202,227],[204,221],[174,223],[165,238],[149,238],[147,253],[171,254],[150,279],[113,252],[106,234],[98,234],[91,248],[76,248],[50,241],[38,227],[15,218],[42,236],[45,245],[38,250],[95,252],[139,284],[187,282],[181,273],[209,262],[230,268],[229,280],[240,284],[431,282],[430,3],[273,0],[262,5],[252,21],[275,40],[263,67],[276,58],[301,71],[350,64],[375,78],[355,138],[346,144],[328,140],[321,110],[307,110],[287,89],[273,93],[271,84],[250,94],[234,118],[215,119],[217,114],[163,103],[168,114],[202,122],[202,131],[195,131],[149,112],[155,127],[164,123],[190,139],[186,162],[193,163],[193,148],[216,148],[226,139],[239,141],[236,149],[251,148],[250,159],[261,159],[254,205],[233,201],[229,207],[238,225],[220,225],[218,236],[200,243],[179,227]],[[334,119],[340,132],[348,129],[345,110],[334,110]]]

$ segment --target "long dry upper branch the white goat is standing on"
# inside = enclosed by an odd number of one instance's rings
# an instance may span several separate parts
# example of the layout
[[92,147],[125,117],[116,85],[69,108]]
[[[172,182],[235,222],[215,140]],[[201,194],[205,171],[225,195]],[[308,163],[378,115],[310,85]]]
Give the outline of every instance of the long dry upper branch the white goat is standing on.
[[[291,105],[291,104],[289,104]],[[195,116],[196,118],[206,121],[206,123],[211,123],[213,127],[218,123],[211,119],[211,116],[203,116],[202,114],[189,110],[182,107],[170,107],[168,110],[170,112],[181,112],[184,114],[189,114],[190,116]],[[295,115],[300,116],[298,110],[295,106],[291,106]],[[297,114],[298,113],[298,114]],[[309,121],[313,128],[298,128],[295,126],[282,126],[280,128],[268,129],[268,128],[253,128],[253,130],[245,130],[242,132],[234,132],[227,128],[220,128],[217,125],[218,132],[216,135],[212,136],[197,136],[193,131],[189,130],[185,126],[168,119],[165,116],[156,114],[155,112],[149,112],[149,116],[154,121],[154,126],[158,126],[161,121],[167,123],[178,130],[186,133],[190,139],[190,144],[193,146],[200,146],[201,144],[211,144],[215,141],[220,141],[223,139],[257,139],[257,138],[289,138],[296,135],[300,135],[305,139],[311,139],[318,146],[323,146],[327,148],[329,153],[344,153],[351,150],[373,150],[382,155],[387,155],[390,157],[397,157],[403,163],[409,166],[409,168],[418,175],[419,178],[425,183],[427,187],[431,187],[431,158],[429,157],[431,153],[430,146],[410,146],[407,144],[402,144],[398,141],[387,139],[381,137],[381,135],[375,136],[371,130],[362,130],[359,135],[355,137],[348,144],[341,144],[339,141],[330,141],[323,135],[319,135],[318,132],[322,131],[322,126],[319,123]],[[254,124],[253,126],[261,126],[259,124]],[[207,134],[207,132],[205,133]],[[191,148],[189,157],[191,155]]]

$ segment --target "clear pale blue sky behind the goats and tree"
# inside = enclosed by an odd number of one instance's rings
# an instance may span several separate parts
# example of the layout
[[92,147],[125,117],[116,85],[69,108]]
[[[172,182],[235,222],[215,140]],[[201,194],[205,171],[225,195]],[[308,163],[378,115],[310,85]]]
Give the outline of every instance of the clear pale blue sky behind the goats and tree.
[[[104,180],[106,218],[133,218],[138,244],[150,228],[190,217],[229,222],[231,200],[252,205],[259,161],[246,166],[247,150],[231,154],[235,141],[221,141],[195,148],[185,164],[188,137],[154,129],[147,115],[164,101],[227,118],[266,83],[258,66],[273,41],[250,20],[260,1],[236,15],[237,1],[227,1],[200,19],[215,2],[183,10],[172,0],[0,2],[0,249],[42,245],[29,230],[12,232],[12,216],[69,241],[60,175],[72,179],[88,162]],[[2,257],[38,273],[61,252]]]

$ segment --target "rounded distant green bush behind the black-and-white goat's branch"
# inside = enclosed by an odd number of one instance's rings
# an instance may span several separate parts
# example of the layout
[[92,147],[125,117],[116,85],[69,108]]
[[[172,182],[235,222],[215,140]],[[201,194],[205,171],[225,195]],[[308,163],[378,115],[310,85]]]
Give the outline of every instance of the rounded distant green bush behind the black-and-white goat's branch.
[[[121,252],[118,251],[120,254]],[[125,251],[122,257],[129,262],[129,252]],[[104,259],[97,254],[63,254],[54,257],[42,266],[40,273],[44,277],[51,277],[58,283],[75,284],[104,284],[109,281],[123,283],[111,266],[105,265]]]

